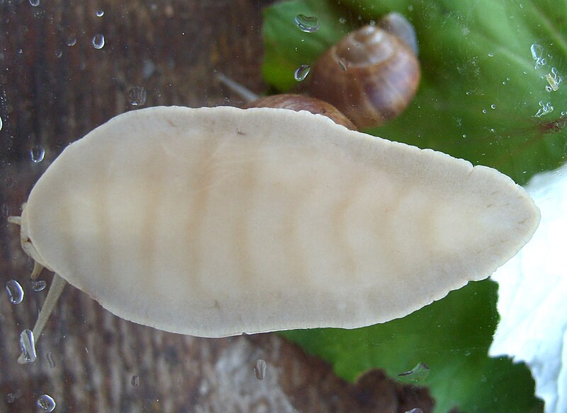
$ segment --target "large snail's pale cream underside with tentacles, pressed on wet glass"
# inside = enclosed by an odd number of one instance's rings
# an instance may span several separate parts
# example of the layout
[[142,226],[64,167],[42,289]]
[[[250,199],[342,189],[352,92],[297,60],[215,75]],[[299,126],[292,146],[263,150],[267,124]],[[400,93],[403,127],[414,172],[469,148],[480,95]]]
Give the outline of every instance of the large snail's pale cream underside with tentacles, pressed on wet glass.
[[497,170],[305,110],[158,106],[67,146],[9,222],[32,277],[55,272],[26,363],[67,282],[198,337],[357,328],[485,279],[539,210]]

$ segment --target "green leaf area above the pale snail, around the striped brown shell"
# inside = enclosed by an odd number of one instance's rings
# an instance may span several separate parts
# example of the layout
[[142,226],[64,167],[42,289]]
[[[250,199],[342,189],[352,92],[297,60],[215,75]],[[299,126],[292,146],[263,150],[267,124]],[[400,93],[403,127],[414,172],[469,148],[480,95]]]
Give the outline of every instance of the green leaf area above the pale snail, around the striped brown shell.
[[[376,135],[444,151],[497,168],[519,183],[567,156],[563,132],[567,86],[546,91],[542,76],[567,75],[566,4],[556,1],[439,0],[287,1],[264,12],[263,74],[287,91],[293,72],[310,64],[355,26],[388,11],[405,14],[420,44],[422,83],[415,100]],[[317,16],[320,30],[303,33],[293,19]],[[546,64],[534,69],[532,45]],[[549,54],[549,57],[547,56]],[[554,111],[535,117],[549,103]]]

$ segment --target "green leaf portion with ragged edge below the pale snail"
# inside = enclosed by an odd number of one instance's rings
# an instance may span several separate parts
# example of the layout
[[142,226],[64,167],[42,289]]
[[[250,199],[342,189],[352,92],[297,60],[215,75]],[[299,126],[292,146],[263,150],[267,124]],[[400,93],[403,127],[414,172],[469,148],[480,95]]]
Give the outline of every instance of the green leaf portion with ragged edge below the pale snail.
[[293,330],[281,334],[332,363],[354,381],[371,368],[391,377],[425,363],[436,412],[541,412],[534,381],[524,364],[490,359],[498,322],[497,285],[479,281],[449,293],[404,318],[357,330]]

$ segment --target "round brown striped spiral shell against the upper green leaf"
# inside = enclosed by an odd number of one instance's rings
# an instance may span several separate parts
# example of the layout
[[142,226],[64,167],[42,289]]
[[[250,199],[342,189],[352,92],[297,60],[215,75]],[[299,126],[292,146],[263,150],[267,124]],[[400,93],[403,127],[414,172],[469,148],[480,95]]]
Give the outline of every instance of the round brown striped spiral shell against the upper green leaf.
[[402,112],[415,95],[420,76],[417,57],[403,40],[366,25],[315,62],[309,91],[363,129]]

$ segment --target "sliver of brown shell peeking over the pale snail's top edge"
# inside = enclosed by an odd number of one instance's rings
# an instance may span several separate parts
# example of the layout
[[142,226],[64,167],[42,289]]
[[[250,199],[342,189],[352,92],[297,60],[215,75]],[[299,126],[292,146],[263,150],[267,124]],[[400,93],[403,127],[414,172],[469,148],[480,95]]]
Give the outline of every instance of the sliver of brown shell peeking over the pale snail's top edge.
[[320,99],[310,98],[305,95],[296,95],[293,93],[284,93],[281,95],[265,96],[254,100],[246,107],[281,107],[283,109],[290,109],[299,112],[300,110],[307,110],[308,112],[325,115],[347,129],[358,130],[354,124],[347,119],[335,106],[330,103],[323,102]]

